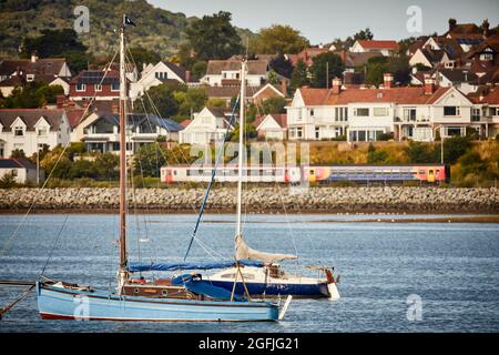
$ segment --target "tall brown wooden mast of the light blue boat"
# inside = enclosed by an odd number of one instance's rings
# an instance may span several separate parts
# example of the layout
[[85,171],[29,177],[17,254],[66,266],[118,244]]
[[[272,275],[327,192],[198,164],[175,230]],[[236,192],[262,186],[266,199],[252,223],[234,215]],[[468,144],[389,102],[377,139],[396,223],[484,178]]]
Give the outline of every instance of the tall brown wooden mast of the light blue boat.
[[120,29],[120,281],[126,276],[126,71],[124,18]]

